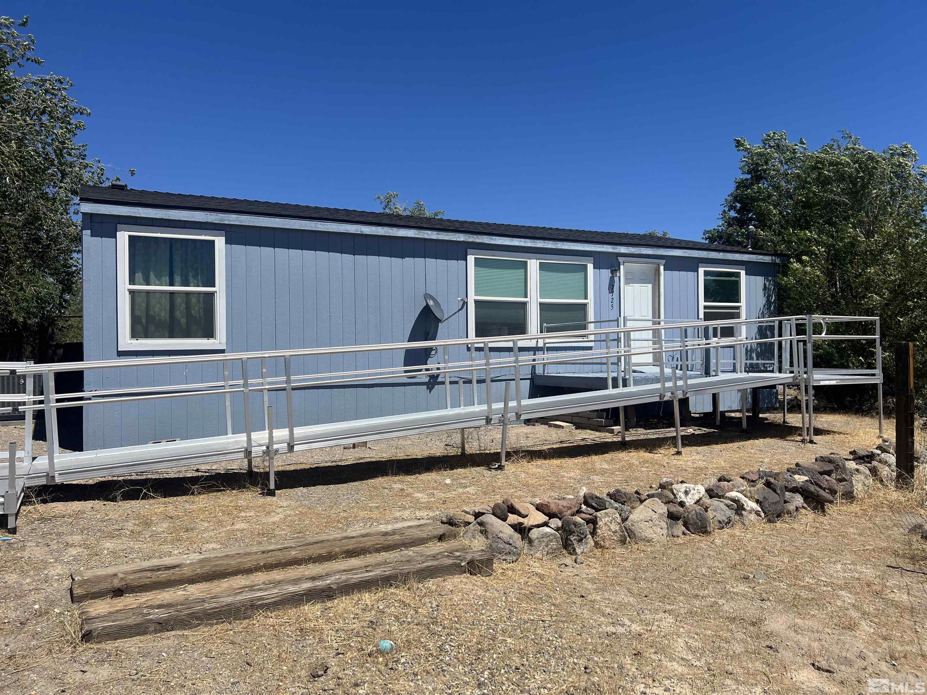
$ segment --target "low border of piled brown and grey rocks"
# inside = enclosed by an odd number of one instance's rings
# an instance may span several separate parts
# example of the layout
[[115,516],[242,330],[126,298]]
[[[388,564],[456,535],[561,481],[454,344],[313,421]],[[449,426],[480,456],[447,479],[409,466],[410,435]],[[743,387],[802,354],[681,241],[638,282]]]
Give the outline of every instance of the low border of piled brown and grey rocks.
[[663,478],[648,492],[616,488],[600,495],[583,487],[575,495],[531,502],[506,498],[442,512],[440,520],[463,528],[465,541],[487,545],[501,562],[564,552],[582,562],[593,548],[709,536],[733,524],[794,518],[802,509],[827,513],[838,500],[865,498],[874,484],[895,485],[895,442],[886,436],[875,449],[851,449],[847,456],[832,452],[785,471],[757,469],[700,484]]

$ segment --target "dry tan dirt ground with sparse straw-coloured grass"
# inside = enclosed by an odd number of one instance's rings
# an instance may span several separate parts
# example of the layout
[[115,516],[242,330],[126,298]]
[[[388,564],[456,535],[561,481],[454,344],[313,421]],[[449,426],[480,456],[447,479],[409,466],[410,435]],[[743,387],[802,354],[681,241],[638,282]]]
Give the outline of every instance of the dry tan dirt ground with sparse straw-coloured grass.
[[[277,460],[276,498],[235,464],[37,488],[0,541],[0,692],[8,693],[865,693],[867,678],[927,677],[924,510],[879,490],[827,516],[683,537],[660,547],[497,564],[253,619],[84,645],[70,572],[459,510],[580,486],[781,469],[872,446],[877,425],[817,413],[794,426],[699,428],[673,455],[666,433],[616,436],[513,427],[371,442]],[[886,423],[893,431],[894,424]],[[0,428],[0,441],[22,436]],[[494,449],[495,448],[495,449]],[[480,453],[480,450],[482,453]],[[888,565],[906,569],[892,569]],[[389,638],[396,651],[375,650]],[[327,665],[324,676],[319,663]],[[816,664],[816,665],[815,665]]]

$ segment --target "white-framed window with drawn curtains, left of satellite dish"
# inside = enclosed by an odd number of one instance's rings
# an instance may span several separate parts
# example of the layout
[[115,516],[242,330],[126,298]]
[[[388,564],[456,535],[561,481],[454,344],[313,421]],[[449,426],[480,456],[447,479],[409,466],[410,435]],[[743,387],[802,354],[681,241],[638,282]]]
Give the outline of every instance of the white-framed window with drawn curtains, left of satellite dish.
[[225,348],[225,234],[120,225],[119,349]]

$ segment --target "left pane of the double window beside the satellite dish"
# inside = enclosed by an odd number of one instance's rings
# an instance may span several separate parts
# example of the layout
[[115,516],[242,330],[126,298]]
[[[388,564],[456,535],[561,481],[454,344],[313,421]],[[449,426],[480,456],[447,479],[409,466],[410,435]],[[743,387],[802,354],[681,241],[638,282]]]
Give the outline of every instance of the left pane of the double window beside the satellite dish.
[[527,333],[527,260],[474,259],[476,337]]

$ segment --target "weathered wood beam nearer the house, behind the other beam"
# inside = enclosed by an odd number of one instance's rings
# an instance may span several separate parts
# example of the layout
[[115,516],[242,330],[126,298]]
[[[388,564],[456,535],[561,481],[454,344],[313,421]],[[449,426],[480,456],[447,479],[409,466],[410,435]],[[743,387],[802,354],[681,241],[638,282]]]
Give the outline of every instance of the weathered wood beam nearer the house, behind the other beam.
[[71,575],[70,600],[77,603],[104,596],[119,597],[307,562],[328,562],[367,553],[414,548],[459,534],[459,529],[438,522],[402,522],[297,538],[283,543],[210,550],[102,567]]

